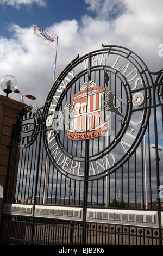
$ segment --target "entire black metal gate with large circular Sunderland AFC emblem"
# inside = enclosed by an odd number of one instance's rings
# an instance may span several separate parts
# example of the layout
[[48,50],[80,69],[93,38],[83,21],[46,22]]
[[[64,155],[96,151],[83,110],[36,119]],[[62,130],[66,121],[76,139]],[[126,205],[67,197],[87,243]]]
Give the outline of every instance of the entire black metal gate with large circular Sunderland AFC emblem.
[[162,245],[162,78],[103,45],[20,112],[2,244]]

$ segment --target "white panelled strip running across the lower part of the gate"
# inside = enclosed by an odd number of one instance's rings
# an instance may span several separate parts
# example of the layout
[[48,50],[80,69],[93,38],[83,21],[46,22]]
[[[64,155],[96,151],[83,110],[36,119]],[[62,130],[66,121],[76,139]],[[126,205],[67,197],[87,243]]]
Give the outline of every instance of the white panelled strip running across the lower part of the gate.
[[[83,221],[83,208],[30,204],[4,204],[4,214]],[[158,228],[158,212],[146,210],[87,209],[87,222]],[[163,212],[161,212],[163,223]],[[162,224],[163,228],[163,224]]]

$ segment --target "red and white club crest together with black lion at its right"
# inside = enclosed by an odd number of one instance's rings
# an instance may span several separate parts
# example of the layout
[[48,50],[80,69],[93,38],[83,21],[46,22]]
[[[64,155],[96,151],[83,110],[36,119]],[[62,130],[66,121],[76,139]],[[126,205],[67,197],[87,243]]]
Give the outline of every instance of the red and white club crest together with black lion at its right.
[[[92,81],[84,83],[78,93],[72,97],[73,102],[73,118],[71,127],[67,130],[67,137],[71,140],[78,141],[83,139],[92,139],[104,135],[110,129],[110,114],[114,113],[123,119],[123,114],[120,112],[120,102],[113,92],[108,92],[103,99],[106,88],[96,86]],[[114,101],[117,101],[119,106],[115,107]],[[105,105],[103,105],[103,103]],[[124,102],[122,101],[123,105]],[[104,114],[103,109],[106,115]]]

